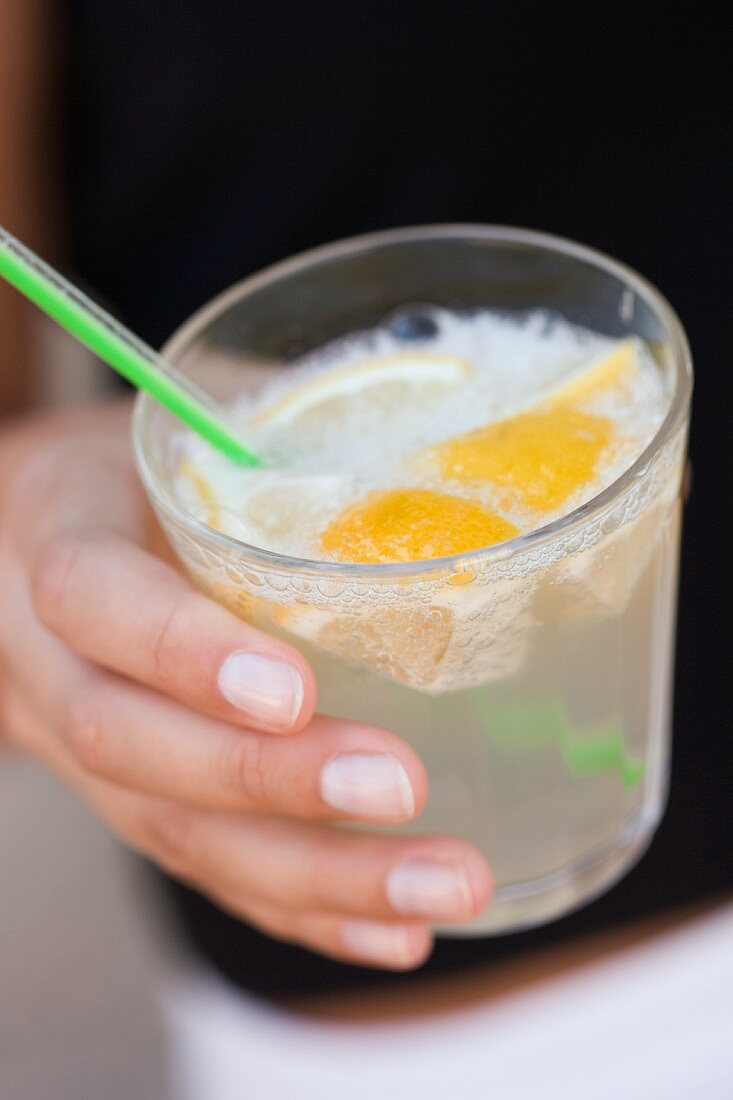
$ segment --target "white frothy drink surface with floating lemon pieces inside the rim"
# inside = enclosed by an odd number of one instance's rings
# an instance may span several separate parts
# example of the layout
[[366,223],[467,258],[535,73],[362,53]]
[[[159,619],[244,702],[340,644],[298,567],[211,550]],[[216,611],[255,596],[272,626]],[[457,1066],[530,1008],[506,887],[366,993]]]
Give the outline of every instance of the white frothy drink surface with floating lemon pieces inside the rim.
[[237,470],[189,439],[177,492],[210,526],[293,557],[440,558],[592,498],[667,405],[638,340],[543,312],[405,307],[236,404],[272,469]]

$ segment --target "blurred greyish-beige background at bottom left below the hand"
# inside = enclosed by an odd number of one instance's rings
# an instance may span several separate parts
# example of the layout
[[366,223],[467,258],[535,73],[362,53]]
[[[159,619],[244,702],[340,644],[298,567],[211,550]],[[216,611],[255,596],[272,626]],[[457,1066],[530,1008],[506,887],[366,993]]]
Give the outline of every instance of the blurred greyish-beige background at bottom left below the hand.
[[154,946],[119,846],[37,768],[0,767],[0,1098],[163,1100]]

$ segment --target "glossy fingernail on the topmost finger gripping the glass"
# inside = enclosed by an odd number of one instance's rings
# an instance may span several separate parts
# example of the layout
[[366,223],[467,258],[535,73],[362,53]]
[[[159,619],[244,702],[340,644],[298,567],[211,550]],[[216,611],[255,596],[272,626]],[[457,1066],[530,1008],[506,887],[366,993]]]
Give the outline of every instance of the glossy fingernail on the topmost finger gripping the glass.
[[223,697],[260,722],[293,726],[303,706],[303,679],[292,664],[262,653],[232,653],[219,669]]

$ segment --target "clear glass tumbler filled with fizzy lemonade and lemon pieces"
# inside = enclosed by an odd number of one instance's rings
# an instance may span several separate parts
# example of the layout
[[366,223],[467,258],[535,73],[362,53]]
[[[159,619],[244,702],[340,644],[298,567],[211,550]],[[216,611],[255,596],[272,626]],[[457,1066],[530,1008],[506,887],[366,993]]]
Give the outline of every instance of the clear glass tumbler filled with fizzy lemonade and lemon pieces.
[[139,462],[196,583],[307,656],[322,713],[419,754],[428,804],[400,831],[485,853],[491,905],[439,931],[528,927],[606,889],[661,814],[677,336],[654,292],[551,238],[379,241],[245,284],[174,341],[267,468],[157,410]]

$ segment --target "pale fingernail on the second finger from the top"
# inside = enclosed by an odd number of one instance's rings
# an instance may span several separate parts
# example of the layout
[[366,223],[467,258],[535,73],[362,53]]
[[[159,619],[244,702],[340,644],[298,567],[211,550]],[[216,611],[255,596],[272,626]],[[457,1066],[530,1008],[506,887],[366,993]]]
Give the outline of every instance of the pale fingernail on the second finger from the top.
[[320,773],[320,794],[333,810],[360,817],[407,821],[415,796],[407,772],[386,752],[347,752]]

